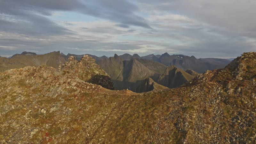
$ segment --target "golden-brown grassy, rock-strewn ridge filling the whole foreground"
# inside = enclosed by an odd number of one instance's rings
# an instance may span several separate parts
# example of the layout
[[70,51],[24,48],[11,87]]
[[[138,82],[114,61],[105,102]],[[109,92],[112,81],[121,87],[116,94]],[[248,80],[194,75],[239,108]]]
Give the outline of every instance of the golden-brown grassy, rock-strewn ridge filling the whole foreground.
[[0,73],[0,142],[256,143],[256,52],[168,90],[109,90],[98,75],[88,56]]

